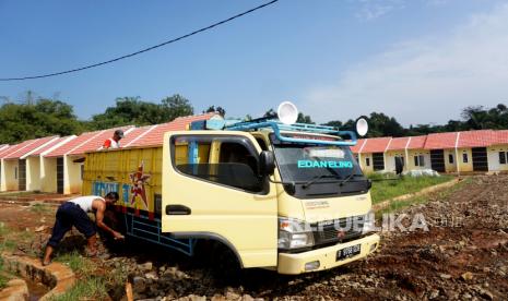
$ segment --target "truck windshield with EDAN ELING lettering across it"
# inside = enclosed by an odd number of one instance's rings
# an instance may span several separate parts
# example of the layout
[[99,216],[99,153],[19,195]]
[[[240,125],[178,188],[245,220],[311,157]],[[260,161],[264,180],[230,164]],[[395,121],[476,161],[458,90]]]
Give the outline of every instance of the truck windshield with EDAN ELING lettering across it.
[[336,181],[362,176],[348,146],[281,144],[272,140],[282,180],[305,182]]

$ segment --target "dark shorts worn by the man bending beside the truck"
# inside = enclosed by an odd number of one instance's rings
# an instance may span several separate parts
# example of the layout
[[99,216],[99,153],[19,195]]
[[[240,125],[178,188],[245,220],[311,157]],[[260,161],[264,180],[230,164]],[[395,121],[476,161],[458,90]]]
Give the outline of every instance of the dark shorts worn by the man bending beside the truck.
[[55,227],[48,244],[57,246],[63,236],[74,226],[86,238],[95,236],[95,224],[88,215],[76,204],[66,202],[58,207]]

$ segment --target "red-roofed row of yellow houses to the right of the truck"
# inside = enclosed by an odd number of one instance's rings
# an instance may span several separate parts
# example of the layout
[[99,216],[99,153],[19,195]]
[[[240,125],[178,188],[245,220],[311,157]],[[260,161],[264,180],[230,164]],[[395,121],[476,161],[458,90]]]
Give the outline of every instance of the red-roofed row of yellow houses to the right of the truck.
[[365,172],[394,171],[395,157],[405,171],[508,171],[508,130],[365,139],[352,150]]

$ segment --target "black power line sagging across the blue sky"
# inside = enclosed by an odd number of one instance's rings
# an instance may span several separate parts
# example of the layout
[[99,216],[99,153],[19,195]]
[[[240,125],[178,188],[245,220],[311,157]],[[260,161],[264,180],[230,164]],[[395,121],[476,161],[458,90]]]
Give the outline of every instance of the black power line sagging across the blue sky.
[[272,0],[270,2],[267,2],[264,4],[261,4],[259,7],[256,7],[253,9],[250,9],[248,11],[245,11],[243,13],[239,13],[239,14],[235,14],[234,16],[231,16],[226,20],[223,20],[223,21],[220,21],[220,22],[216,22],[216,23],[213,23],[212,25],[209,25],[206,27],[202,27],[200,29],[197,29],[194,32],[191,32],[189,34],[186,34],[186,35],[182,35],[182,36],[179,36],[177,38],[174,38],[174,39],[170,39],[170,40],[167,40],[167,41],[164,41],[164,43],[161,43],[161,44],[157,44],[155,46],[152,46],[152,47],[149,47],[149,48],[144,48],[142,50],[139,50],[139,51],[135,51],[135,52],[132,52],[132,53],[129,53],[129,55],[125,55],[125,56],[121,56],[121,57],[118,57],[118,58],[115,58],[115,59],[110,59],[110,60],[107,60],[107,61],[103,61],[103,62],[98,62],[98,63],[94,63],[94,64],[88,64],[88,65],[84,65],[84,67],[80,67],[80,68],[76,68],[76,69],[71,69],[71,70],[67,70],[67,71],[60,71],[60,72],[55,72],[55,73],[48,73],[48,74],[42,74],[42,75],[33,75],[33,76],[23,76],[23,77],[5,77],[5,79],[0,79],[0,82],[11,82],[11,81],[25,81],[25,80],[35,80],[35,79],[44,79],[44,77],[50,77],[50,76],[57,76],[57,75],[62,75],[62,74],[67,74],[67,73],[73,73],[73,72],[78,72],[78,71],[83,71],[83,70],[86,70],[86,69],[92,69],[92,68],[95,68],[95,67],[99,67],[99,65],[104,65],[104,64],[108,64],[108,63],[113,63],[113,62],[116,62],[116,61],[119,61],[119,60],[123,60],[123,59],[127,59],[127,58],[130,58],[130,57],[134,57],[134,56],[138,56],[138,55],[141,55],[143,52],[147,52],[150,50],[153,50],[153,49],[156,49],[156,48],[160,48],[160,47],[163,47],[163,46],[166,46],[166,45],[169,45],[169,44],[173,44],[173,43],[176,43],[180,39],[185,39],[185,38],[188,38],[190,36],[193,36],[193,35],[197,35],[197,34],[200,34],[202,32],[205,32],[205,31],[209,31],[209,29],[212,29],[213,27],[216,27],[218,25],[223,25],[227,22],[231,22],[235,19],[238,19],[240,16],[244,16],[246,14],[249,14],[249,13],[252,13],[257,10],[260,10],[262,8],[265,8],[265,7],[269,7],[275,2],[277,2],[279,0]]

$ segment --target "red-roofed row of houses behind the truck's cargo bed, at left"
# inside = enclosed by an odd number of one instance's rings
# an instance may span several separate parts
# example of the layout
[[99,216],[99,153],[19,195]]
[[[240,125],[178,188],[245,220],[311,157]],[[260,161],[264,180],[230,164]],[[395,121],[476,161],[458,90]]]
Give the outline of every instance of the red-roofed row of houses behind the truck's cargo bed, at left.
[[0,191],[40,191],[81,193],[85,153],[97,150],[105,140],[121,129],[122,147],[150,147],[163,144],[167,131],[186,130],[192,121],[210,119],[214,113],[180,117],[168,123],[133,125],[81,135],[48,136],[15,145],[0,145]]

